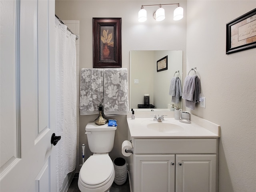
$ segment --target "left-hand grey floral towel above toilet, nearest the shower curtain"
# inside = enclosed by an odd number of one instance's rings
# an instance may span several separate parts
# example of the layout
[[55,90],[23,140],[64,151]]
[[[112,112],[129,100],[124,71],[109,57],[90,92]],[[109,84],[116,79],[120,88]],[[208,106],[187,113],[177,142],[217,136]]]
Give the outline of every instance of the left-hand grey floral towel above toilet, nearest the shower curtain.
[[80,76],[80,115],[98,114],[103,104],[103,69],[82,68]]

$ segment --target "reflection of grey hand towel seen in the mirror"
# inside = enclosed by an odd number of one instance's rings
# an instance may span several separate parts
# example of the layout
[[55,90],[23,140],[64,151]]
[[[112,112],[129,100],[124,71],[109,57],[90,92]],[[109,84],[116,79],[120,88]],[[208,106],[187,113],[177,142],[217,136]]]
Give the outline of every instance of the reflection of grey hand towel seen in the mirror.
[[173,77],[170,84],[169,95],[172,96],[173,103],[179,103],[182,96],[181,82],[180,78]]

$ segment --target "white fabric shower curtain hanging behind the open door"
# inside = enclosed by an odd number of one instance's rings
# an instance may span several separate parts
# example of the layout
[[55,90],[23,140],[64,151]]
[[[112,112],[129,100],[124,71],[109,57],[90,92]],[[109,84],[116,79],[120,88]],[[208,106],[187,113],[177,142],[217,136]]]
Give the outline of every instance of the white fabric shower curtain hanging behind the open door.
[[76,36],[55,18],[57,192],[76,168]]

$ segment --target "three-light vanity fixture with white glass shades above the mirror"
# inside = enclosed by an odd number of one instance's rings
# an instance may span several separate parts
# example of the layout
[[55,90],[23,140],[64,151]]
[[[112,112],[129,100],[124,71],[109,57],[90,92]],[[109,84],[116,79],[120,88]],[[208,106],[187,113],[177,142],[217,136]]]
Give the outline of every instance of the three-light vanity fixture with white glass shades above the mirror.
[[147,20],[147,11],[144,7],[147,6],[158,6],[158,9],[154,12],[153,17],[156,21],[162,21],[165,19],[164,8],[163,5],[176,5],[176,9],[173,12],[173,20],[177,21],[183,18],[183,8],[180,6],[179,3],[175,4],[156,4],[156,5],[142,5],[140,11],[138,13],[138,21],[145,22]]

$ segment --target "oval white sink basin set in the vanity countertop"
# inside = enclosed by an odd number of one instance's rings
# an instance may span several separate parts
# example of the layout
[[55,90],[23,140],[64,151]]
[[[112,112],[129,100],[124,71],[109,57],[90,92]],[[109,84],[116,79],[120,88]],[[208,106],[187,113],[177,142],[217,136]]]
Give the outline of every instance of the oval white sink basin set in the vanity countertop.
[[184,131],[182,126],[173,123],[154,122],[147,125],[147,128],[158,132],[178,133]]

